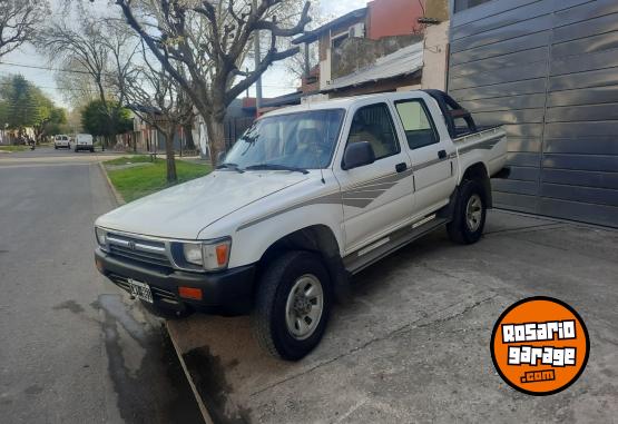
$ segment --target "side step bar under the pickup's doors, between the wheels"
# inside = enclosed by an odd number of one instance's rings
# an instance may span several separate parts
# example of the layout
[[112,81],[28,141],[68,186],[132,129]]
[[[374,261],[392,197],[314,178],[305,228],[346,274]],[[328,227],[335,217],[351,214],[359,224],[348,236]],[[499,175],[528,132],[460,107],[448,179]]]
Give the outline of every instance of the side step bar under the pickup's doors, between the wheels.
[[345,256],[343,258],[343,266],[351,274],[360,273],[373,263],[389,256],[391,253],[409,243],[414,241],[448,221],[449,219],[438,217],[435,214],[430,215]]

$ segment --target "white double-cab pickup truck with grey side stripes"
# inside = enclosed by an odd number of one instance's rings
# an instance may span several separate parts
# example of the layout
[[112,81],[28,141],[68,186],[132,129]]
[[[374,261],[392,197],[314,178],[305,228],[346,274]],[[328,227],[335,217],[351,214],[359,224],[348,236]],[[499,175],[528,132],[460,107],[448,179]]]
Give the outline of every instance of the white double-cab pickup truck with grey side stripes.
[[155,313],[251,313],[300,359],[353,274],[443,225],[479,240],[506,158],[502,128],[436,90],[276,110],[210,175],[98,218],[96,265]]

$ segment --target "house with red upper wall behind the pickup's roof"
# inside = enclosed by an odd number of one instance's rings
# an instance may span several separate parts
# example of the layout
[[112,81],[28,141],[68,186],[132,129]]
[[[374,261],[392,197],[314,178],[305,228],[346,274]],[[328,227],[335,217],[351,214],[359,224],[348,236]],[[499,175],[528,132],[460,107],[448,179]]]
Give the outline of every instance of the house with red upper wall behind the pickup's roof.
[[433,56],[431,87],[443,88],[447,4],[447,0],[374,0],[297,37],[293,43],[305,49],[318,43],[320,63],[305,72],[302,92],[341,97],[429,87],[423,85],[425,56]]

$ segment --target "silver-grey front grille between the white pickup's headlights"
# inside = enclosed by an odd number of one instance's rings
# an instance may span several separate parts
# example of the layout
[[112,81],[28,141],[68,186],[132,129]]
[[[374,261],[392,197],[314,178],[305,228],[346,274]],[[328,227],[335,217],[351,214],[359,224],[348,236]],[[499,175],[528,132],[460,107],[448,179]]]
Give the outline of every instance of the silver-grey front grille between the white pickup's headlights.
[[163,241],[145,240],[118,234],[107,236],[109,254],[131,262],[171,268]]

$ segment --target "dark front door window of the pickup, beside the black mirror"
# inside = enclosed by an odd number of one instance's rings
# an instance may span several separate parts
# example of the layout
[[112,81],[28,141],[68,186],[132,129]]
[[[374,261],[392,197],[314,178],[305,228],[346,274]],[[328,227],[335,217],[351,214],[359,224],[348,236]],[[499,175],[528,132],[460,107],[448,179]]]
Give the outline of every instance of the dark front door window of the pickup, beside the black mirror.
[[401,151],[386,103],[365,106],[354,114],[347,144],[369,141],[375,160]]

